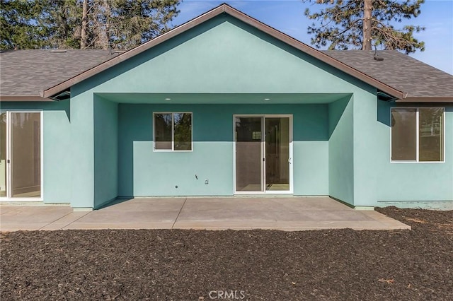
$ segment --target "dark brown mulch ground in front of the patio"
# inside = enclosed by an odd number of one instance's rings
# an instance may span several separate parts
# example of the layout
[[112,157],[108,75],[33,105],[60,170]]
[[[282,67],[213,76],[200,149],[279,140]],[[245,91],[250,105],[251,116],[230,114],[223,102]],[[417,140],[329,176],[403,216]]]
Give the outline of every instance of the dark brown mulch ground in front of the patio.
[[453,300],[453,211],[377,210],[413,230],[3,233],[0,297]]

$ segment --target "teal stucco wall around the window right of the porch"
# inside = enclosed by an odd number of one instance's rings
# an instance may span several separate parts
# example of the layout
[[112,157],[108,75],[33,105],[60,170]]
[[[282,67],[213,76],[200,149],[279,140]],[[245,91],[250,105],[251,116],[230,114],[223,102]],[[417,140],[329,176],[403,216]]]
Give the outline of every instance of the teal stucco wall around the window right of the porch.
[[420,107],[387,102],[377,103],[374,138],[379,146],[372,156],[376,161],[376,198],[370,206],[422,207],[453,209],[453,105],[445,107],[445,162],[391,163],[391,107]]

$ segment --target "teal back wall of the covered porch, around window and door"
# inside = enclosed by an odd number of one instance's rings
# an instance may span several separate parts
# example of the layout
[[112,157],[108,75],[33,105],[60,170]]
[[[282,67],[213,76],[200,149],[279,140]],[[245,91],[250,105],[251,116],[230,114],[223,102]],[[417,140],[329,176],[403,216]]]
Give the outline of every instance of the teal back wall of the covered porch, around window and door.
[[[193,112],[193,151],[154,152],[153,112]],[[292,114],[294,194],[328,194],[327,105],[130,104],[118,111],[118,194],[232,195],[234,114]]]

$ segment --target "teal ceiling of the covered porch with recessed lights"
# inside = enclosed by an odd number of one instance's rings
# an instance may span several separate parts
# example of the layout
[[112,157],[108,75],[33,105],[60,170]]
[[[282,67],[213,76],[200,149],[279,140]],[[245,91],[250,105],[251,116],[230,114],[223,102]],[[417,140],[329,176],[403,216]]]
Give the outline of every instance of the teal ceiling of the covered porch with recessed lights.
[[326,104],[350,93],[96,93],[107,100],[135,104]]

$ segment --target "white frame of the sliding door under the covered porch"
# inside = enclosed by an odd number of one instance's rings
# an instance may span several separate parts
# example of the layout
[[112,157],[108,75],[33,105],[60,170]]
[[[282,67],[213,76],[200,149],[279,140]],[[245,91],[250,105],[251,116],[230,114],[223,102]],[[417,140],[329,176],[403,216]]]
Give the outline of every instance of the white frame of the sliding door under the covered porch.
[[[266,190],[266,165],[263,160],[261,160],[261,191],[237,191],[236,190],[236,117],[251,117],[251,118],[261,118],[261,159],[265,158],[266,149],[265,149],[265,119],[266,118],[289,118],[289,190]],[[292,141],[292,114],[234,114],[233,115],[233,191],[236,195],[241,194],[294,194],[294,172],[293,172],[293,141]]]

